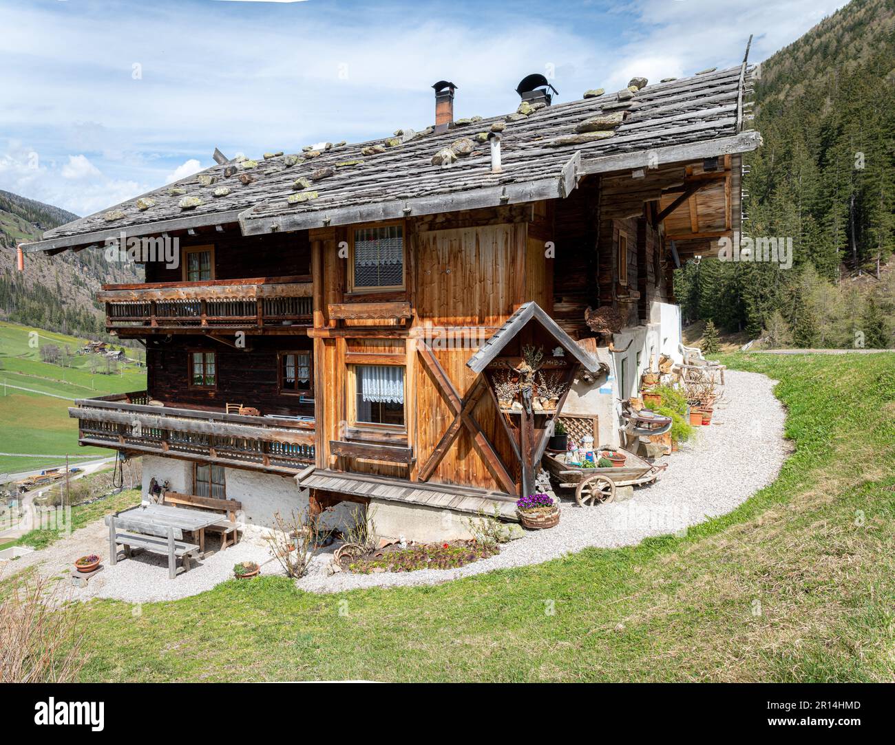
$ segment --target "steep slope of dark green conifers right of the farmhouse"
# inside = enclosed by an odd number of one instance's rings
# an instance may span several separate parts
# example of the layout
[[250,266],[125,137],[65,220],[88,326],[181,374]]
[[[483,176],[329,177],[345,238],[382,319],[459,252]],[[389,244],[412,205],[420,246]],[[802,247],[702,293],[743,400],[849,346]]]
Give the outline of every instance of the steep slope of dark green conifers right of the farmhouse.
[[[780,343],[892,346],[895,0],[853,0],[754,72],[743,232],[791,238],[793,264],[702,261],[676,280],[687,320]],[[868,344],[869,346],[870,344]]]

